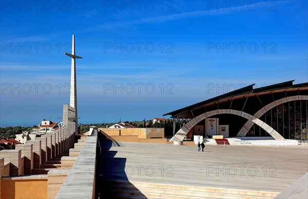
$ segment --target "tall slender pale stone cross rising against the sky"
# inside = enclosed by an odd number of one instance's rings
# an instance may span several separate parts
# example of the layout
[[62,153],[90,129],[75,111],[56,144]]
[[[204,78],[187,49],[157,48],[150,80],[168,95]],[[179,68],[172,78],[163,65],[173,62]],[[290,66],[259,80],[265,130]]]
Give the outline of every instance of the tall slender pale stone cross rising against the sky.
[[[65,55],[72,58],[72,64],[71,64],[71,87],[70,87],[70,100],[69,105],[73,108],[75,108],[75,115],[72,120],[76,122],[76,128],[78,126],[78,114],[77,114],[77,87],[76,87],[76,62],[75,59],[82,59],[82,57],[75,55],[75,35],[73,35],[72,39],[72,53],[64,53]],[[77,131],[78,129],[76,129]]]

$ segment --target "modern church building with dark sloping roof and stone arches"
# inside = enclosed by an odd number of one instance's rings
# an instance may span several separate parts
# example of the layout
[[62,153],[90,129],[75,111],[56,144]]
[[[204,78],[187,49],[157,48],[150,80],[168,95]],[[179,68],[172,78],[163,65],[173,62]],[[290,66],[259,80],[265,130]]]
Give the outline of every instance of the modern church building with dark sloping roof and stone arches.
[[249,85],[167,113],[183,122],[170,141],[183,140],[187,134],[307,140],[308,83],[293,81]]

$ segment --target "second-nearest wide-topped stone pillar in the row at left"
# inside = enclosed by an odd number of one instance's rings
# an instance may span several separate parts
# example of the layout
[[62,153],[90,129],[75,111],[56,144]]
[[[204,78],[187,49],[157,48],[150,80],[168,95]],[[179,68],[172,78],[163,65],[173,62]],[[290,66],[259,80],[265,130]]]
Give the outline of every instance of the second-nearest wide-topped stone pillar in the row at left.
[[31,171],[34,165],[34,156],[33,156],[33,144],[16,144],[16,150],[22,150],[22,157],[25,156],[24,159],[24,174],[31,175]]

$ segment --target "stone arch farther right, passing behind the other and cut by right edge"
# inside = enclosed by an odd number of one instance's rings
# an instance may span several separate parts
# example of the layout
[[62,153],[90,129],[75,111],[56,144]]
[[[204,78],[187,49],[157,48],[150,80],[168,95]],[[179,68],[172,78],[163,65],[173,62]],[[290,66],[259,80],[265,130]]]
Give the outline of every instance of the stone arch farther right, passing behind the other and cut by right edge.
[[[254,117],[260,118],[263,114],[265,114],[267,111],[271,110],[275,106],[278,106],[278,105],[283,104],[285,102],[296,101],[296,100],[308,100],[308,96],[297,95],[297,96],[285,97],[285,98],[281,98],[279,100],[273,101],[273,102],[267,104],[266,106],[262,107],[259,111],[257,111],[257,113],[254,114]],[[248,133],[249,129],[251,129],[253,125],[254,125],[254,122],[248,120],[243,125],[242,129],[238,132],[237,137],[245,137],[246,134]]]

